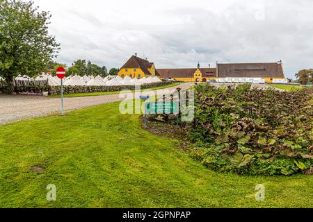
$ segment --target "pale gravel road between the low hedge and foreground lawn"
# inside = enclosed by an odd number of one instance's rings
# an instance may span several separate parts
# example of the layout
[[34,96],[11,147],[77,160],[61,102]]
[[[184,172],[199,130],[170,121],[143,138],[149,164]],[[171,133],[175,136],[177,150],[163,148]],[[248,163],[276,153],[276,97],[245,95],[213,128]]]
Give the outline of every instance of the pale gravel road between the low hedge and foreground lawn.
[[[168,90],[175,90],[177,87],[188,89],[193,83],[183,83],[174,87],[168,87],[159,90],[150,90],[143,94],[154,94],[158,92],[163,94]],[[76,98],[64,98],[65,111],[77,110],[79,108],[93,105],[113,103],[121,101],[119,94],[88,96]],[[61,110],[61,101],[58,98],[47,98],[44,96],[24,96],[24,95],[3,95],[0,94],[0,124],[29,119],[33,117],[42,117]]]

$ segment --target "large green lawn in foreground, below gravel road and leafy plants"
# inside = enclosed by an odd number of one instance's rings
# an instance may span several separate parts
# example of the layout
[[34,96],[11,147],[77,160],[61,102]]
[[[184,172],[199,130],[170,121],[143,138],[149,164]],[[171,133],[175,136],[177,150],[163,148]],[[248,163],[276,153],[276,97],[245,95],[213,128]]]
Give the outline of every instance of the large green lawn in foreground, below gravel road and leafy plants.
[[[0,126],[0,207],[313,207],[313,176],[215,173],[118,107]],[[255,200],[259,183],[265,201]]]

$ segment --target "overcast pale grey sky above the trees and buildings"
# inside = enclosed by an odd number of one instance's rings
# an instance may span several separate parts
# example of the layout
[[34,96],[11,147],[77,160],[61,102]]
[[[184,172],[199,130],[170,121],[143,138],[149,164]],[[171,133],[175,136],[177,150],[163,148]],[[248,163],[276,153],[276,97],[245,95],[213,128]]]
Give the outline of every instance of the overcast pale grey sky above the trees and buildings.
[[58,62],[121,67],[134,53],[157,68],[277,62],[313,67],[311,0],[35,0],[51,12]]

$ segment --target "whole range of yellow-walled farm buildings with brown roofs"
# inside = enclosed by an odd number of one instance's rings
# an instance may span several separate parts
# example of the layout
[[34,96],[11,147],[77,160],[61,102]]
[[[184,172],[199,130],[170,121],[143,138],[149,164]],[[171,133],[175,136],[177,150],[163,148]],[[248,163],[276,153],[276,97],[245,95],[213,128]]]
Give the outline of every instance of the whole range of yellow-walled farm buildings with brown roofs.
[[184,82],[207,82],[219,79],[262,78],[266,83],[284,79],[282,61],[259,63],[216,63],[216,68],[190,69],[156,69],[153,62],[147,59],[131,56],[118,72],[122,78],[143,78],[143,76],[159,76]]

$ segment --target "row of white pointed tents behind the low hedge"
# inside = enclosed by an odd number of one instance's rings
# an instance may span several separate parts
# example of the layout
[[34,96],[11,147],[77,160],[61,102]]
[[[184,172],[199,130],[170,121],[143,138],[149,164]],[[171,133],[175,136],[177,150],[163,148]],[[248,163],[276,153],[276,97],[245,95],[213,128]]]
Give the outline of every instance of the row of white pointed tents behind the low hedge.
[[[16,82],[19,81],[38,81],[42,82],[42,80],[47,80],[48,85],[57,86],[61,85],[61,79],[56,76],[51,76],[49,74],[41,74],[36,78],[30,78],[29,76],[17,76],[15,78]],[[130,78],[129,76],[125,76],[125,78],[121,78],[120,76],[106,76],[102,78],[101,76],[68,76],[63,78],[63,85],[142,85],[147,83],[159,83],[161,80],[157,76],[149,76],[147,78],[143,77],[141,79],[138,78]]]

